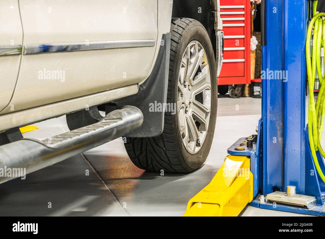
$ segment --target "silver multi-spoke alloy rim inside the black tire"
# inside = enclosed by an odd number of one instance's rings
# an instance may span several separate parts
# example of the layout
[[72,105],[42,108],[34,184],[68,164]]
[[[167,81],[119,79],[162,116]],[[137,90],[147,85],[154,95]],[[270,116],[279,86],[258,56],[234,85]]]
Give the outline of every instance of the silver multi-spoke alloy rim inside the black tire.
[[178,126],[189,153],[197,153],[206,138],[211,110],[211,76],[203,46],[192,41],[185,48],[177,82]]

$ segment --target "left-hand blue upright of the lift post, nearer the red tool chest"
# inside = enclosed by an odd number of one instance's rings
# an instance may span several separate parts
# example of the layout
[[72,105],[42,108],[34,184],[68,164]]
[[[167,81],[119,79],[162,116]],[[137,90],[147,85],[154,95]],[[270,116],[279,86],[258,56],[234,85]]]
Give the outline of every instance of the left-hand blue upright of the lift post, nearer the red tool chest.
[[[283,191],[283,1],[267,0],[266,46],[262,47],[263,194]],[[292,99],[294,100],[294,99]]]

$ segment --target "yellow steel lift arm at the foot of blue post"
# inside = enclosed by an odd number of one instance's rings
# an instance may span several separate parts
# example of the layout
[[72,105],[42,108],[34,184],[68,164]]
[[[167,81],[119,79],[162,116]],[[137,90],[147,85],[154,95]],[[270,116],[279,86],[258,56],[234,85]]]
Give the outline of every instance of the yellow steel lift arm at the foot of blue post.
[[250,157],[228,155],[211,182],[189,200],[183,216],[238,216],[253,200],[250,166]]

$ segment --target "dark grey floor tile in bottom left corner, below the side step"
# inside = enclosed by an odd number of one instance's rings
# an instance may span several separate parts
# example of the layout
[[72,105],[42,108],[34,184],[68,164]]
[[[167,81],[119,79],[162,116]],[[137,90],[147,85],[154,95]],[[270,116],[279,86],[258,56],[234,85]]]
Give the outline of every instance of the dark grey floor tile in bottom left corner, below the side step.
[[128,216],[128,213],[102,181],[93,181],[2,187],[0,215]]

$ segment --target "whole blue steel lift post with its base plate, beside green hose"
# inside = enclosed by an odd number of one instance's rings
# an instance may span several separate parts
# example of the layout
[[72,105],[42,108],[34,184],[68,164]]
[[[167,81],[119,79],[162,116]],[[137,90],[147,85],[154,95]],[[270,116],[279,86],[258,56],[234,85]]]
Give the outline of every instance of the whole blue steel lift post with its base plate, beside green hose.
[[[259,121],[258,139],[253,150],[236,151],[236,142],[228,153],[251,156],[254,175],[254,200],[251,206],[325,216],[321,210],[325,185],[317,175],[306,131],[308,97],[305,42],[309,1],[267,0],[262,3],[266,21],[264,44],[262,42],[262,76],[265,78],[262,79],[262,118]],[[319,153],[318,161],[325,172]],[[317,206],[306,209],[259,203],[261,194],[266,196],[274,191],[285,192],[288,185],[296,186],[297,194],[315,196]]]

